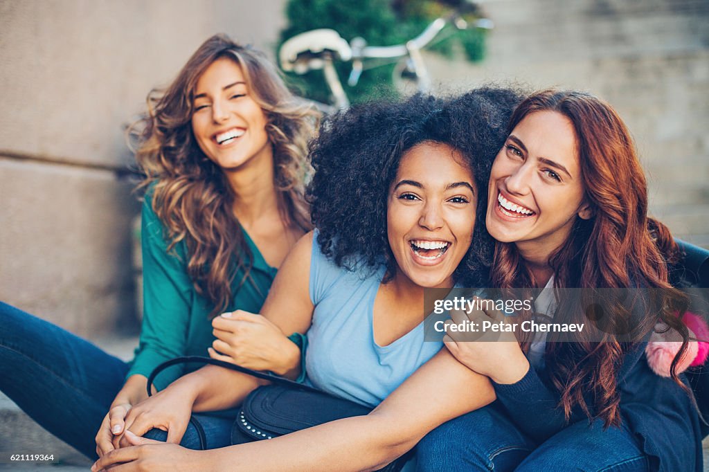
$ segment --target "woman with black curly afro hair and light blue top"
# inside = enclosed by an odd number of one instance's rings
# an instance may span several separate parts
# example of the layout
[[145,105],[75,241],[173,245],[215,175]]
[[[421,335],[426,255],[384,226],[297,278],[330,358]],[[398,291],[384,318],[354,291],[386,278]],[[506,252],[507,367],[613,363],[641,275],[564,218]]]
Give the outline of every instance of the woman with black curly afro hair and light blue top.
[[[94,470],[126,462],[376,470],[431,429],[490,403],[488,378],[440,340],[424,342],[421,308],[425,288],[489,278],[486,189],[517,102],[513,91],[477,89],[457,99],[369,103],[326,120],[311,148],[316,230],[286,258],[262,314],[286,334],[307,333],[313,386],[374,408],[369,415],[207,452],[131,435],[136,447],[112,451]],[[133,432],[168,425],[182,437],[192,411],[238,405],[245,385],[257,381],[206,366],[134,407],[141,423]]]

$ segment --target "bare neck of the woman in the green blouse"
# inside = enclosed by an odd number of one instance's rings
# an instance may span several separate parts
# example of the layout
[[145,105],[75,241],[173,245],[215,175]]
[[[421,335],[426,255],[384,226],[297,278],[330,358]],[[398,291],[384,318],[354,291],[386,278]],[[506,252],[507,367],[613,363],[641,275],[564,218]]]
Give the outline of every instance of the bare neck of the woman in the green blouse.
[[259,218],[279,210],[274,184],[273,149],[270,145],[238,169],[225,171],[234,192],[234,213],[242,226],[252,227]]

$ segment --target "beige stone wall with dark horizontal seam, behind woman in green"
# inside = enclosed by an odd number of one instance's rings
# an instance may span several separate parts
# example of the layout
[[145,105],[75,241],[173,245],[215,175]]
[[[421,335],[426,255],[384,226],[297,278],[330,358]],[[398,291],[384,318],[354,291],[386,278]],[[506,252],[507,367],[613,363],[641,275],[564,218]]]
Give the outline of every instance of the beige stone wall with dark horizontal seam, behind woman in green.
[[270,50],[284,1],[0,1],[0,300],[135,329],[124,127],[213,33]]

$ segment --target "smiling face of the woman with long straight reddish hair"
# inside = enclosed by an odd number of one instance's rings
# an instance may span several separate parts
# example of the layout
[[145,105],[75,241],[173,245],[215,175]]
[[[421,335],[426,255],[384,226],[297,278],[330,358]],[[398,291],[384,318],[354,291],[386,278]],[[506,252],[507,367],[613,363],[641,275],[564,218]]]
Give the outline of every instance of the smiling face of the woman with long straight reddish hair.
[[489,192],[490,235],[514,242],[525,259],[547,260],[577,217],[591,218],[571,120],[556,111],[523,118],[495,158]]

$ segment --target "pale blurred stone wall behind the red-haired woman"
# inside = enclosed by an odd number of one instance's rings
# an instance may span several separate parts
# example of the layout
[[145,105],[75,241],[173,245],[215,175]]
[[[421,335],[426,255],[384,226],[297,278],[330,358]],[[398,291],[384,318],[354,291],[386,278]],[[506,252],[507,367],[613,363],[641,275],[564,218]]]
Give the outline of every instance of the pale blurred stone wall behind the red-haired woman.
[[709,1],[500,0],[479,64],[428,55],[439,89],[515,81],[591,91],[618,109],[651,212],[709,247]]

